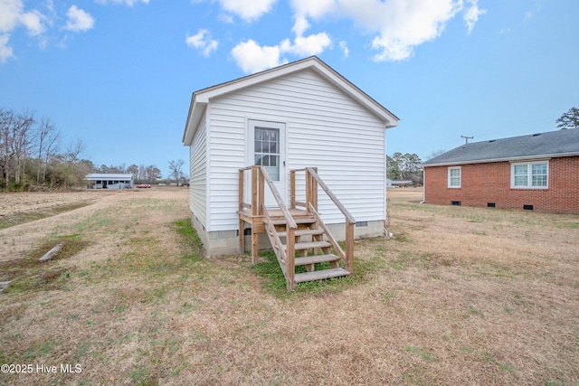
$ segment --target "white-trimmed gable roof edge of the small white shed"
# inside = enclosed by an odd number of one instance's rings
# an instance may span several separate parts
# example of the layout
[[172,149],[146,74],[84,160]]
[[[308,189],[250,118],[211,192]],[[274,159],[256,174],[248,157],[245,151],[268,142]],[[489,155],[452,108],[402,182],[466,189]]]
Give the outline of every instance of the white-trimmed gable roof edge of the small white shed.
[[400,120],[387,108],[384,108],[384,106],[375,101],[375,99],[371,98],[361,89],[358,89],[356,85],[346,80],[346,78],[328,66],[324,61],[321,61],[317,56],[310,56],[300,61],[293,61],[270,70],[257,72],[236,80],[195,91],[191,97],[191,105],[189,106],[189,114],[187,115],[185,131],[183,133],[183,143],[189,145],[193,141],[196,127],[203,118],[205,108],[211,99],[308,69],[316,71],[318,75],[328,80],[338,89],[344,91],[351,98],[356,99],[356,101],[365,106],[365,108],[375,114],[375,116],[381,118],[384,121],[385,128],[395,127],[398,120]]

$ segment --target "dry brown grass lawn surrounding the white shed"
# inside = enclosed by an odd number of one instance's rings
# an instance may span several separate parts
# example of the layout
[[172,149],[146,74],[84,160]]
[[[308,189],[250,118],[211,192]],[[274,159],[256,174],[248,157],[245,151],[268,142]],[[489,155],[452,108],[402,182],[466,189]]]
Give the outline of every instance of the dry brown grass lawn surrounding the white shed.
[[47,279],[58,286],[0,295],[0,362],[34,365],[0,384],[579,383],[578,216],[389,197],[394,239],[356,241],[365,280],[284,297],[247,257],[200,259],[184,242],[185,189],[103,195],[0,230],[14,267],[47,240],[86,241],[27,267],[60,272]]

